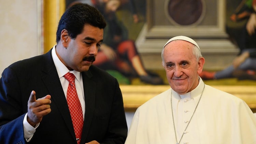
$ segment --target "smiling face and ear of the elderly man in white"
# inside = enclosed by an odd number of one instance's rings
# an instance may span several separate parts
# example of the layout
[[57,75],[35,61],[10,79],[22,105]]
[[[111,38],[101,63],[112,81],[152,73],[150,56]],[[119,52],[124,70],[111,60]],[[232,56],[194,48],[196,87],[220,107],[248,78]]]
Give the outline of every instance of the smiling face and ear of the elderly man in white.
[[180,95],[197,87],[198,74],[203,69],[204,58],[197,61],[193,46],[187,41],[175,40],[167,44],[163,52],[167,80],[171,88]]

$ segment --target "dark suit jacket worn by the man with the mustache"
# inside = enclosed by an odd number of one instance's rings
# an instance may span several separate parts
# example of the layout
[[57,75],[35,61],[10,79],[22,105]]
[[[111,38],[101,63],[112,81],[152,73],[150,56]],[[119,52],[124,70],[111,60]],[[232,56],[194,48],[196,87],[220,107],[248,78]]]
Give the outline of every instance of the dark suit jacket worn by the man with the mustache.
[[[124,143],[127,124],[117,80],[91,66],[82,72],[85,117],[81,144]],[[23,118],[31,91],[36,98],[51,95],[51,113],[45,115],[29,143],[76,144],[75,133],[51,51],[15,62],[0,79],[0,143],[25,143]]]

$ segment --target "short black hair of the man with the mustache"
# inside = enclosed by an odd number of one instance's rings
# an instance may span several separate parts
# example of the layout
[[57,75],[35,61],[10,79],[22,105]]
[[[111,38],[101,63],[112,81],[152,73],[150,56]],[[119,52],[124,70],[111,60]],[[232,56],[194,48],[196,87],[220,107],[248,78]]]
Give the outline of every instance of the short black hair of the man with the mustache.
[[101,13],[88,4],[77,3],[68,8],[61,16],[56,32],[56,42],[60,40],[63,29],[68,31],[71,39],[82,33],[85,24],[89,24],[100,29],[106,27],[106,22]]

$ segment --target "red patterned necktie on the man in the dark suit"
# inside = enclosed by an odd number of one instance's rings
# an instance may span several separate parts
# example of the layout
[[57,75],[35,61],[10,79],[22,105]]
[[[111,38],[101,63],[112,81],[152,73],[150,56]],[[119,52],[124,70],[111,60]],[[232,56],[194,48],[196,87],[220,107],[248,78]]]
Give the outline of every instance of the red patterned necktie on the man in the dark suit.
[[75,88],[75,75],[73,73],[67,73],[64,77],[69,81],[67,102],[75,131],[76,141],[77,144],[80,144],[84,119],[82,106]]

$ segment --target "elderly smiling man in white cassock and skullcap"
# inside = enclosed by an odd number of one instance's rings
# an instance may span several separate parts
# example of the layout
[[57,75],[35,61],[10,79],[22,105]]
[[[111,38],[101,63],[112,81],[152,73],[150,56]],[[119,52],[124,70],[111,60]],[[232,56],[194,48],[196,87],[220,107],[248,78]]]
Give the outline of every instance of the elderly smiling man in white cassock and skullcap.
[[137,109],[125,144],[256,144],[248,105],[198,76],[205,60],[194,40],[174,37],[161,56],[171,88]]

